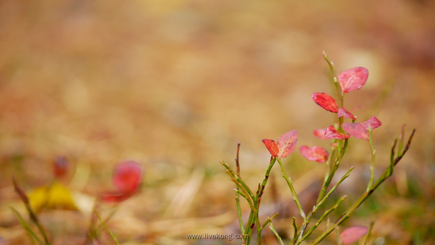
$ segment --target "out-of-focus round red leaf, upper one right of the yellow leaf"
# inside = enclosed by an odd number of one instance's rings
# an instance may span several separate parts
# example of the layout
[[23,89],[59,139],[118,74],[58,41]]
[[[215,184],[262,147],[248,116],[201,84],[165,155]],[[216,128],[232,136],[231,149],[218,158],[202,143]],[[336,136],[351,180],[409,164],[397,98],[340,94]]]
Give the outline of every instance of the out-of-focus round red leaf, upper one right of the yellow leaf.
[[142,179],[142,169],[135,161],[118,163],[113,170],[112,182],[120,192],[135,191]]

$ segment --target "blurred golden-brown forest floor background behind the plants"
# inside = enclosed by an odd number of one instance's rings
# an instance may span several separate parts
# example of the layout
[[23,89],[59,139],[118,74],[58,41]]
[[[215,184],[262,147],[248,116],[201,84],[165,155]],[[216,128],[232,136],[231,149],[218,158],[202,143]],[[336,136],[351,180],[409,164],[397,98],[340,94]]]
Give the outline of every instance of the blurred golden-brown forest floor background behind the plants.
[[[369,70],[345,107],[363,106],[353,112],[359,121],[375,115],[382,122],[373,132],[377,175],[402,124],[406,138],[417,129],[393,177],[341,230],[374,219],[369,244],[434,244],[434,10],[425,0],[2,0],[0,244],[32,243],[9,208],[30,222],[11,177],[28,193],[49,185],[57,156],[67,159],[59,181],[78,210],[39,213],[53,244],[86,240],[94,199],[113,188],[113,166],[123,160],[141,163],[141,192],[99,207],[104,217],[116,210],[107,224],[121,243],[240,244],[186,234],[240,233],[234,183],[219,163],[235,168],[237,142],[252,189],[270,159],[260,139],[297,129],[297,147],[327,148],[313,130],[337,117],[310,96],[335,96],[323,51],[338,72]],[[318,212],[347,194],[331,222],[365,190],[370,173],[368,143],[351,139],[348,149],[337,175],[355,169]],[[310,210],[325,167],[297,150],[284,164]],[[292,216],[301,222],[286,185],[275,166],[262,201],[263,220],[279,211],[274,225],[284,238]],[[249,211],[243,200],[242,209]],[[264,239],[276,244],[268,232]],[[114,243],[106,231],[98,242]],[[335,234],[324,244],[337,244]]]

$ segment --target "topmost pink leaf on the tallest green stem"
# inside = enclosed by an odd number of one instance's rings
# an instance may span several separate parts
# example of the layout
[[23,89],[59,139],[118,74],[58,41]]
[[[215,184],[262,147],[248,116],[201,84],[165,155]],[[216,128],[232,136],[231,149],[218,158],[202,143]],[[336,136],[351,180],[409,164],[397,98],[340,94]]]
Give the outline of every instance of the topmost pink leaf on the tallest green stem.
[[363,87],[368,77],[369,70],[364,67],[350,68],[337,76],[341,90],[345,93]]

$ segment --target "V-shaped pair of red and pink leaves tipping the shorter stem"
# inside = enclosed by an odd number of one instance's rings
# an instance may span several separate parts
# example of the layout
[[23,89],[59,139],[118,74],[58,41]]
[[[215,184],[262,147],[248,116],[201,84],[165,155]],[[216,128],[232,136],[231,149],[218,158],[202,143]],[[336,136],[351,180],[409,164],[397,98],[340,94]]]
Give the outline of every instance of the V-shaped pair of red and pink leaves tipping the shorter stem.
[[273,157],[287,157],[295,150],[297,143],[297,131],[291,130],[283,134],[281,137],[279,137],[277,143],[271,139],[262,139],[262,141]]

